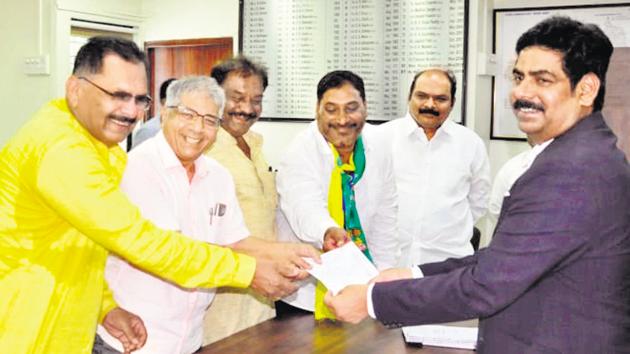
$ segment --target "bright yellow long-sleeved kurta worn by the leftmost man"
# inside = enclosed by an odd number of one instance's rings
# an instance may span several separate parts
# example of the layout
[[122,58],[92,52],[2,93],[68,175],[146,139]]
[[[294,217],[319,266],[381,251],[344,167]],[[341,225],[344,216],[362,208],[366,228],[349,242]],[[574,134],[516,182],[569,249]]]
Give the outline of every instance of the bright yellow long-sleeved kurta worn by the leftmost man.
[[185,287],[251,282],[253,258],[142,219],[118,187],[125,163],[65,100],[0,151],[0,352],[90,353],[97,320],[114,306],[108,250]]

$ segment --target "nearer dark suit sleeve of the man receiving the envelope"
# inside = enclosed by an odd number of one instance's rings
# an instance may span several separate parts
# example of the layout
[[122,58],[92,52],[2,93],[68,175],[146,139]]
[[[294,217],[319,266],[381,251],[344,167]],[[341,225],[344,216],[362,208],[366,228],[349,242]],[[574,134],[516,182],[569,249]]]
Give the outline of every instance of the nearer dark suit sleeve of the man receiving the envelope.
[[[597,169],[553,161],[527,174],[484,252],[461,262],[423,266],[422,279],[378,283],[372,300],[385,323],[418,325],[490,316],[549,272],[580,257],[597,232],[604,178]],[[468,264],[466,264],[468,263]],[[450,266],[447,266],[449,265]],[[450,271],[449,271],[450,269]]]

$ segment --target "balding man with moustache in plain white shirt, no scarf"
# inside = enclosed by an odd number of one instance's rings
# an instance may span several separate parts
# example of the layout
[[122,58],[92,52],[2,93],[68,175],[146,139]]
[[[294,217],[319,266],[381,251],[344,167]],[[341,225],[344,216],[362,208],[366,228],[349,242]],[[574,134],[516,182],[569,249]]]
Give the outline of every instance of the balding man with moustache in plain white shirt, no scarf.
[[398,189],[400,266],[473,253],[473,226],[486,212],[490,166],[483,141],[448,120],[455,76],[419,72],[409,91],[409,112],[383,124]]

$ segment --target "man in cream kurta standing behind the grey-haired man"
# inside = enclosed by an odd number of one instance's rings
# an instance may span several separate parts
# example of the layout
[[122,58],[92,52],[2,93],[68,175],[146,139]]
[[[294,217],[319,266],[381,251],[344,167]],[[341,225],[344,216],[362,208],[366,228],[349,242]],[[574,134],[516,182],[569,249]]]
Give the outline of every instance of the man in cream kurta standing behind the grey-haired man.
[[[250,233],[275,241],[274,173],[262,152],[262,136],[249,129],[262,113],[267,71],[241,56],[216,65],[211,76],[225,90],[226,102],[221,129],[208,154],[232,174]],[[222,288],[204,319],[204,343],[215,342],[275,314],[269,299],[248,289]]]

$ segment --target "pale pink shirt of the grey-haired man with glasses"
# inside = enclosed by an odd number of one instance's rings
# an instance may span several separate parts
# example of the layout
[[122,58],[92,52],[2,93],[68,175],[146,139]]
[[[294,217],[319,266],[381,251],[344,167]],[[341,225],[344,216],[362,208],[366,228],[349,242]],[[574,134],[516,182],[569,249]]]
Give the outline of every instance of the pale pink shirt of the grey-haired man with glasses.
[[[189,182],[186,170],[162,132],[132,150],[121,187],[157,226],[193,239],[227,245],[249,235],[229,172],[200,156]],[[214,289],[183,289],[109,256],[105,278],[118,305],[142,318],[148,332],[134,353],[189,354],[201,346],[203,316]],[[101,326],[98,334],[122,351]]]

